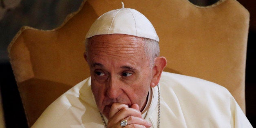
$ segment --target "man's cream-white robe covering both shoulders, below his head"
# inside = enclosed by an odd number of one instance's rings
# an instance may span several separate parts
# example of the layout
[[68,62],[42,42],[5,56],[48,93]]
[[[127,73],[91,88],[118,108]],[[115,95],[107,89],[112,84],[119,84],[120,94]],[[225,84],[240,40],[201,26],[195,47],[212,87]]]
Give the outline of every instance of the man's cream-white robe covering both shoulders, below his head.
[[[229,91],[203,79],[163,72],[161,128],[252,128]],[[153,88],[146,120],[157,128],[157,87]],[[105,118],[106,119],[106,118]],[[39,117],[32,128],[104,128],[90,89],[80,82]]]

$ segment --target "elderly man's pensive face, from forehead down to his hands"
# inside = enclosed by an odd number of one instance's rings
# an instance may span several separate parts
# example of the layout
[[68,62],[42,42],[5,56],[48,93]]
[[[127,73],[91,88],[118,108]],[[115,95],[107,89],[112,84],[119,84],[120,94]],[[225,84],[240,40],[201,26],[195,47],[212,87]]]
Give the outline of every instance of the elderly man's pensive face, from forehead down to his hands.
[[96,35],[89,43],[88,64],[97,107],[107,118],[115,102],[139,110],[146,105],[152,68],[146,58],[143,39],[132,35]]

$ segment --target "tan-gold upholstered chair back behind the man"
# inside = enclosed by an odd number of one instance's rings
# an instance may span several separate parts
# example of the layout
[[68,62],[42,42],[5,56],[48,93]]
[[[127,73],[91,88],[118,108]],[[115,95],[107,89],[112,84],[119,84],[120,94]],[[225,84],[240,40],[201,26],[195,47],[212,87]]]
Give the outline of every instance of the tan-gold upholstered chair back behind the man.
[[[245,112],[245,60],[249,12],[235,0],[196,7],[187,0],[122,0],[154,25],[165,71],[225,86]],[[29,126],[66,90],[90,75],[84,37],[103,13],[121,0],[88,0],[57,29],[23,27],[9,45],[9,57]]]

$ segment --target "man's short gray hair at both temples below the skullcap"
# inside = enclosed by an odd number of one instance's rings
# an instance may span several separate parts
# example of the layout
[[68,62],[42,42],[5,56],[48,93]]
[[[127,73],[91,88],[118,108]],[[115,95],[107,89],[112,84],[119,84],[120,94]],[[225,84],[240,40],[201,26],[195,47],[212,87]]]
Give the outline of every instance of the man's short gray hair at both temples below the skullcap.
[[[87,53],[89,51],[89,48],[88,48],[89,39],[90,38],[86,38],[85,40],[85,50],[86,50],[87,60],[89,60],[89,56]],[[149,67],[153,68],[154,59],[158,57],[160,54],[159,43],[156,40],[143,38],[143,47],[144,47],[145,55],[147,59],[150,61]]]

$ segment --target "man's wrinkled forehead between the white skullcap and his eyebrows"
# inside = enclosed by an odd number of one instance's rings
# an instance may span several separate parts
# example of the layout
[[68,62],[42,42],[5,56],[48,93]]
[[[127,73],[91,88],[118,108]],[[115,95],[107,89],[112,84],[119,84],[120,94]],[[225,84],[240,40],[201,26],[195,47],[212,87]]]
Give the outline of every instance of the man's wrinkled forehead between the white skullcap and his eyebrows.
[[95,35],[89,38],[87,47],[90,56],[131,57],[145,55],[143,38],[125,34]]

